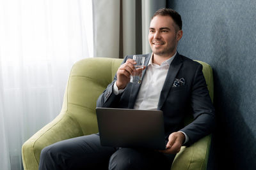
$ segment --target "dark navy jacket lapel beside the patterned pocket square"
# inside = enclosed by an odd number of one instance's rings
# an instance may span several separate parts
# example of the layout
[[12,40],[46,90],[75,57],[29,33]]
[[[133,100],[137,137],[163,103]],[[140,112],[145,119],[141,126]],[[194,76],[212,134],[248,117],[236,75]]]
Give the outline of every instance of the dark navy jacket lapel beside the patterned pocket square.
[[182,66],[182,59],[181,59],[179,53],[177,52],[177,55],[173,59],[171,65],[169,67],[168,73],[166,75],[163,89],[161,90],[161,94],[159,97],[157,110],[161,110],[161,108],[163,107],[164,101],[166,101],[169,91],[170,91],[170,89],[172,89],[173,81],[175,80],[175,77],[179,73],[181,66]]

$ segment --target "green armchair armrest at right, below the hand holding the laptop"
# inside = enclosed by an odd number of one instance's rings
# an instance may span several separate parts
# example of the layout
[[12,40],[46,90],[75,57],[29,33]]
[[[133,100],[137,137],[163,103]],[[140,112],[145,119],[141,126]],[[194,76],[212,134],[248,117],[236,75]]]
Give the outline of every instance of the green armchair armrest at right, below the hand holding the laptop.
[[210,146],[211,135],[205,136],[189,147],[182,146],[173,160],[172,170],[207,169]]

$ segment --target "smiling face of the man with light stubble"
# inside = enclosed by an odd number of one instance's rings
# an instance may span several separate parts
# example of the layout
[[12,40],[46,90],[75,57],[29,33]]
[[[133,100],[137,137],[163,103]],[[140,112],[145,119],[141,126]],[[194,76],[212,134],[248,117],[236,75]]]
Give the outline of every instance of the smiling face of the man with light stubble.
[[172,57],[180,38],[182,38],[182,31],[178,31],[178,26],[172,17],[156,15],[151,20],[148,41],[154,54]]

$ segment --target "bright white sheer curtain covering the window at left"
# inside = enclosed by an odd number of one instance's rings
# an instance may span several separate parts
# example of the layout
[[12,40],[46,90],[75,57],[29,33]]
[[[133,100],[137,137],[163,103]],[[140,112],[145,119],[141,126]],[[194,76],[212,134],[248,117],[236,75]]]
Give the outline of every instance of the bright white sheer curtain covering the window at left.
[[92,35],[91,0],[0,0],[0,169],[22,169],[22,143],[60,112]]

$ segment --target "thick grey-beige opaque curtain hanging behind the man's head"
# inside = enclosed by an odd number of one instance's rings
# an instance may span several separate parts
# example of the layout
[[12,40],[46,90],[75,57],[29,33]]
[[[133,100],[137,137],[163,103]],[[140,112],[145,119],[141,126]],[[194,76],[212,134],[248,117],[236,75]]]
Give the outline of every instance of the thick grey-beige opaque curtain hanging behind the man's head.
[[95,57],[123,58],[149,53],[148,27],[166,0],[94,0],[93,39]]

